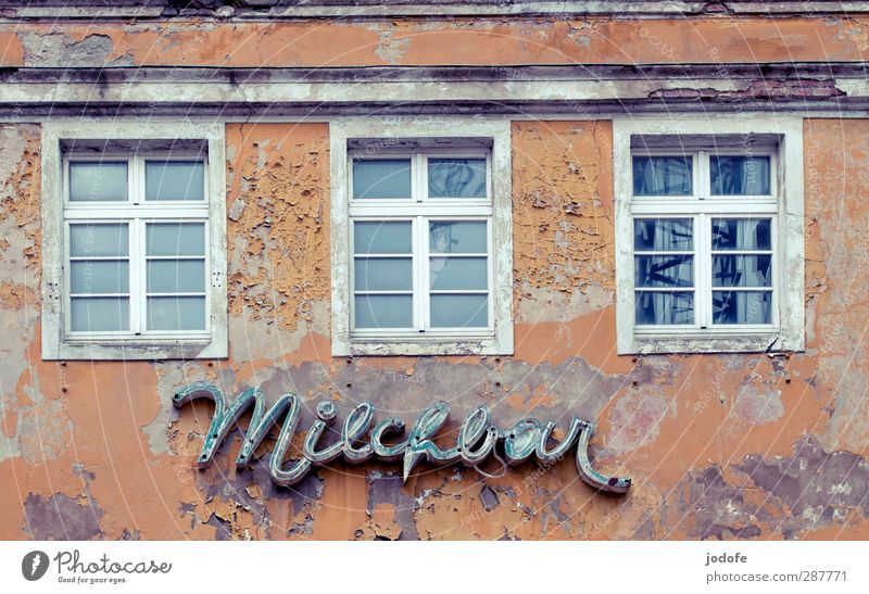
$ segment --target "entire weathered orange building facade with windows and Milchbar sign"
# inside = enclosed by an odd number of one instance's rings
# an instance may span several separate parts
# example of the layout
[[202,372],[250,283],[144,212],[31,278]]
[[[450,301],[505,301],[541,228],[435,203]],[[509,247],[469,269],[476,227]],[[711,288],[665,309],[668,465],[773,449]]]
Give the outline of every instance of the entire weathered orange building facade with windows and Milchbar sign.
[[862,3],[17,4],[3,539],[869,536]]

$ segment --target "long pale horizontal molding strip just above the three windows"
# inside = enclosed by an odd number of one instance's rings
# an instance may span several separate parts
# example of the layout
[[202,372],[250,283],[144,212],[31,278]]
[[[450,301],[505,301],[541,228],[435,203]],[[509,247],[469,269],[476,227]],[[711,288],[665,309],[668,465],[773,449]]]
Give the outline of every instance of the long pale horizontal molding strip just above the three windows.
[[[2,68],[0,114],[844,111],[869,63]],[[102,110],[102,111],[101,111]]]

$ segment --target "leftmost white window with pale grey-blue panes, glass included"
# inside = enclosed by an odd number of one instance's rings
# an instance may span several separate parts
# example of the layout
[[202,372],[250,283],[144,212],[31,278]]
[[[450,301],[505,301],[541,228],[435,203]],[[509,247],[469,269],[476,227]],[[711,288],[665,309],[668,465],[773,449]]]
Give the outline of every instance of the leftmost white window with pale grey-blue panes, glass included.
[[47,251],[61,257],[48,273],[58,306],[46,358],[225,356],[225,264],[215,262],[225,250],[212,195],[222,191],[207,139],[59,144],[49,186],[60,228]]

